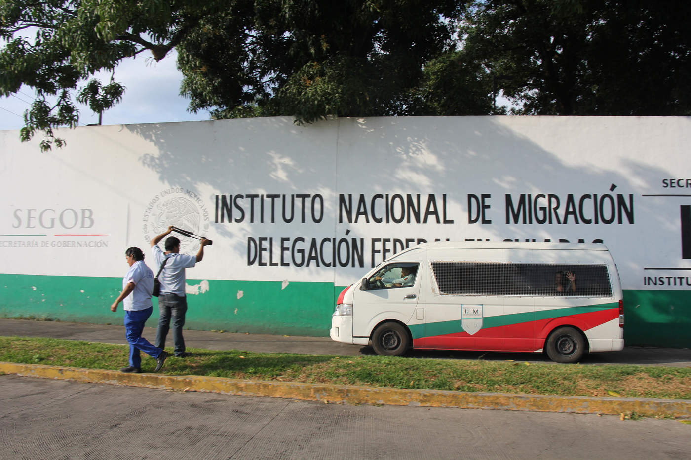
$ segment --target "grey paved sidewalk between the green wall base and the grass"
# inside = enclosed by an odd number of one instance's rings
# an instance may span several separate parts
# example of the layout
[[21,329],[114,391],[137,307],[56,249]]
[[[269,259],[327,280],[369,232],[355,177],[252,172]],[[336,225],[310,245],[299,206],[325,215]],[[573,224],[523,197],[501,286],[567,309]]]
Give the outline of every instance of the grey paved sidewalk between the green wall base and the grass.
[[[149,320],[155,325],[155,320]],[[125,329],[121,325],[94,325],[84,323],[65,323],[61,321],[34,321],[0,319],[0,336],[52,337],[68,340],[119,343],[126,345]],[[156,329],[146,327],[144,337],[153,342]],[[231,332],[184,331],[187,347],[205,349],[241,349],[263,353],[302,353],[334,354],[357,356],[374,354],[371,347],[346,345],[332,341],[328,337],[272,336],[264,334],[236,334]],[[171,337],[167,345],[171,347]],[[536,353],[495,353],[495,352],[441,352],[414,351],[409,356],[418,358],[478,359],[487,361],[528,361],[551,363],[543,354]],[[643,364],[687,367],[691,366],[691,349],[659,347],[625,347],[621,352],[594,353],[586,355],[582,364]]]

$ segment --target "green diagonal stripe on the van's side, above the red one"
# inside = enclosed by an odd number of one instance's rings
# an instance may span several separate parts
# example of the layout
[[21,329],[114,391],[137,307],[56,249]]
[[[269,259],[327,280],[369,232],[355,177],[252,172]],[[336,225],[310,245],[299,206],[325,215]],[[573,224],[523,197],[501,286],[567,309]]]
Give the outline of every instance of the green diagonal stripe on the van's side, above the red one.
[[[520,323],[528,323],[530,321],[540,321],[552,318],[559,318],[560,316],[569,316],[590,312],[599,312],[601,310],[618,308],[619,303],[603,303],[600,305],[586,305],[584,307],[567,307],[556,308],[549,310],[540,310],[536,312],[513,313],[499,316],[486,316],[482,318],[482,329],[489,329],[491,327],[510,326]],[[444,336],[446,334],[457,334],[463,332],[460,319],[451,321],[439,321],[439,323],[427,323],[421,325],[410,325],[410,333],[413,334],[413,339],[424,337]]]

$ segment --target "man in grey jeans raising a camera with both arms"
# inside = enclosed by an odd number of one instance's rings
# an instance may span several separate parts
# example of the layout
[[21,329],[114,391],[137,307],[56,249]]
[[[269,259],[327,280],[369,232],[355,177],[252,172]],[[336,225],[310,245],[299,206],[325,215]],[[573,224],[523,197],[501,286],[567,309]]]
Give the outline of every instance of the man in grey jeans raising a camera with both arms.
[[166,265],[163,267],[160,276],[158,277],[161,283],[160,295],[158,297],[158,310],[160,317],[158,318],[158,330],[156,331],[156,347],[164,348],[166,343],[166,336],[171,325],[171,318],[173,320],[173,345],[175,345],[174,353],[178,358],[189,356],[185,352],[184,338],[182,338],[182,327],[184,326],[184,316],[187,313],[187,296],[185,295],[185,287],[187,286],[187,278],[185,269],[192,268],[197,262],[201,262],[204,258],[204,247],[211,244],[211,240],[201,238],[201,245],[196,256],[187,256],[180,254],[180,240],[175,236],[169,236],[165,241],[165,249],[163,252],[158,243],[165,236],[168,236],[175,227],[171,225],[167,231],[164,231],[151,240],[151,251],[158,267],[160,267],[164,260]]

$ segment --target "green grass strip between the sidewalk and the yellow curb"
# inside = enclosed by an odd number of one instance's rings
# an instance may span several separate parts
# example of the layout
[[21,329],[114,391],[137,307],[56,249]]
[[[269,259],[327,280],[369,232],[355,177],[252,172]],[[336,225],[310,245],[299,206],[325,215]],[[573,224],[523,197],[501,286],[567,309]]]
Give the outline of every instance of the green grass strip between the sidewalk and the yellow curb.
[[[324,356],[188,349],[162,374],[375,387],[559,396],[691,399],[691,368],[557,365],[388,356]],[[129,346],[55,338],[0,337],[0,361],[117,370]],[[144,355],[142,370],[155,360]]]

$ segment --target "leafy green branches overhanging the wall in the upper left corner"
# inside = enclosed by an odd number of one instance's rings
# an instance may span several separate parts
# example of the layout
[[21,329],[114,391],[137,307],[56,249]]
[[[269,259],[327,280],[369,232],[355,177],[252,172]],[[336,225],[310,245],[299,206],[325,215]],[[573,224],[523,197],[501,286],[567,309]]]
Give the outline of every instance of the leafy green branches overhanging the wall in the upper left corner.
[[144,50],[163,59],[202,17],[224,9],[225,3],[0,0],[0,39],[6,42],[0,51],[0,95],[17,93],[22,85],[36,94],[24,115],[21,139],[44,131],[42,149],[53,142],[61,146],[64,142],[53,137],[52,129],[77,126],[75,92],[77,100],[97,113],[122,99],[124,86],[113,77],[105,85],[88,82],[90,77],[113,71],[122,59]]

